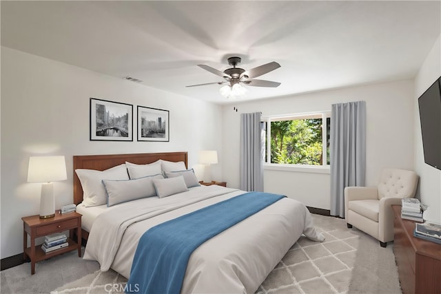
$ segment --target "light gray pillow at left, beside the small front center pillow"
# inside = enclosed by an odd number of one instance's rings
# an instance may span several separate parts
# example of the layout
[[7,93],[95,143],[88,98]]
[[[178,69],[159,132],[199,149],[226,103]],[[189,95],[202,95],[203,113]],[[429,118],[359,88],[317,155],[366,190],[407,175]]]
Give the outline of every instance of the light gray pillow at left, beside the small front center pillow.
[[162,174],[135,180],[103,180],[107,192],[107,207],[114,204],[156,196],[153,179],[164,178]]

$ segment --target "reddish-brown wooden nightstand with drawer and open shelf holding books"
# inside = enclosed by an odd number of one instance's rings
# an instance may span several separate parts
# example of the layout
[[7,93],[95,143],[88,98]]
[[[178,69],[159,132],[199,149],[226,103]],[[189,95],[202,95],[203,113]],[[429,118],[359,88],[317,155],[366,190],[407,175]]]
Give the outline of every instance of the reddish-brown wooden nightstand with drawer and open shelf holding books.
[[[41,260],[52,258],[61,253],[78,250],[78,257],[81,258],[81,214],[72,212],[60,214],[56,211],[54,218],[41,219],[39,216],[27,216],[23,220],[23,259],[30,258],[30,272],[35,273],[35,263]],[[69,246],[57,249],[45,254],[41,245],[35,245],[35,239],[70,230],[68,238]],[[76,230],[77,240],[72,240],[74,230]],[[30,235],[30,247],[28,247],[28,235]]]

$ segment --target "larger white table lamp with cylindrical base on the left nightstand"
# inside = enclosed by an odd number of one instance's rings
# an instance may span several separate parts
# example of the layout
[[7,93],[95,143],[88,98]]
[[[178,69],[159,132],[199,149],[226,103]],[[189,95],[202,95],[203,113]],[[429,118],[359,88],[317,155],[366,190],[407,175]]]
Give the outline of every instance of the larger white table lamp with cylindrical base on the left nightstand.
[[67,180],[64,156],[30,156],[28,182],[41,184],[40,218],[55,216],[54,184],[52,182]]

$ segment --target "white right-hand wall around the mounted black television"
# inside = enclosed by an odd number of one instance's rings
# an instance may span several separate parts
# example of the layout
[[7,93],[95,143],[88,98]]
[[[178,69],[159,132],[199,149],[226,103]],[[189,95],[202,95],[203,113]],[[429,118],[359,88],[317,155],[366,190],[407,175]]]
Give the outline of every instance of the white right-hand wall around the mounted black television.
[[441,223],[441,171],[424,162],[422,149],[420,113],[418,109],[418,97],[421,96],[432,83],[441,76],[441,35],[433,44],[431,52],[420,68],[415,78],[415,111],[414,132],[416,171],[420,175],[420,200],[429,205],[430,220]]

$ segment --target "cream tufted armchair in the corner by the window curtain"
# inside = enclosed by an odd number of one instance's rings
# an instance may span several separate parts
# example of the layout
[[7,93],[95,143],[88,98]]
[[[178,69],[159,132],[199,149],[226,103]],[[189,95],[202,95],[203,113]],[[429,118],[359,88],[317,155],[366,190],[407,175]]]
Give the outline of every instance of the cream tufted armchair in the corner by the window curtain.
[[345,219],[347,227],[355,226],[380,241],[382,247],[393,240],[391,205],[401,198],[413,198],[418,185],[414,171],[384,169],[377,187],[345,188]]

